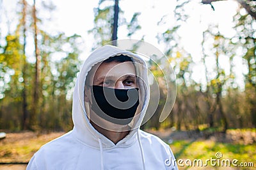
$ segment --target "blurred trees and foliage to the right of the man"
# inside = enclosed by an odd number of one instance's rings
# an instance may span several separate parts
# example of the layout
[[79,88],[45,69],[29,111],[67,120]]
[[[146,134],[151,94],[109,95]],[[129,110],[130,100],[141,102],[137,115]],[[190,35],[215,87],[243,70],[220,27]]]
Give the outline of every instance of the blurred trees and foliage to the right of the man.
[[[193,63],[195,58],[192,59],[179,45],[178,34],[180,26],[189,17],[186,13],[189,3],[191,1],[177,1],[174,12],[177,22],[157,35],[159,43],[165,47],[164,53],[173,66],[177,80],[177,98],[167,124],[178,130],[195,130],[202,124],[208,130],[224,131],[228,127],[255,127],[255,20],[251,15],[238,11],[234,17],[237,34],[232,38],[221,35],[218,26],[209,26],[203,33],[202,56],[195,56],[201,58],[202,62]],[[159,24],[164,24],[163,21],[161,19]],[[239,48],[243,51],[242,56],[237,55]],[[228,63],[223,63],[223,58],[227,58]],[[244,91],[237,88],[241,86],[241,82],[237,83],[234,64],[237,58],[243,58],[243,66],[248,68],[248,73],[244,73]],[[191,77],[195,65],[204,66],[200,81]],[[227,65],[230,66],[229,70]],[[161,77],[160,74],[157,76]]]

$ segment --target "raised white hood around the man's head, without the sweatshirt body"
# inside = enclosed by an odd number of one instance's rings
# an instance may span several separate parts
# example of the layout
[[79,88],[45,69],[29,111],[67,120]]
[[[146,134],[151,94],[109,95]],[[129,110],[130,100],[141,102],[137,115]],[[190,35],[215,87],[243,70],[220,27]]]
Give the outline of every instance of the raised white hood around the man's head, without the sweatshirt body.
[[[141,77],[143,82],[138,81],[138,87],[140,89],[140,105],[138,107],[138,114],[136,121],[132,121],[131,127],[132,130],[130,133],[117,144],[114,144],[107,137],[100,134],[95,128],[91,125],[88,117],[86,116],[86,105],[84,104],[84,84],[86,81],[86,76],[91,68],[110,57],[119,56],[119,55],[129,56],[134,60],[134,63],[138,63],[135,66],[136,75]],[[72,120],[74,122],[74,128],[72,134],[82,143],[99,148],[99,140],[102,143],[102,148],[112,148],[115,146],[129,146],[129,144],[136,141],[137,136],[135,135],[138,132],[145,112],[147,111],[147,105],[149,101],[149,85],[147,77],[147,65],[145,61],[140,58],[140,56],[129,52],[127,50],[118,49],[117,47],[111,45],[104,45],[94,50],[92,54],[84,61],[84,64],[81,68],[81,72],[77,77],[76,86],[74,88],[73,94],[73,105],[72,105]]]

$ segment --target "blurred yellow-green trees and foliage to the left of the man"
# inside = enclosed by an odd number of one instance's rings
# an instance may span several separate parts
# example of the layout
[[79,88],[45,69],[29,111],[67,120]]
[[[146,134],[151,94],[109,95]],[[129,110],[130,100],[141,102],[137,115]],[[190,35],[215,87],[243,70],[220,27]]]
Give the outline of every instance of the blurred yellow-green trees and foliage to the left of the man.
[[[20,4],[24,4],[24,1],[20,1]],[[26,55],[27,35],[34,34],[31,8],[32,6],[26,4],[26,8],[20,9],[22,12],[18,12],[20,20],[17,29],[5,37],[6,45],[1,47],[0,128],[70,130],[70,99],[81,65],[78,59],[81,36],[67,37],[63,33],[50,35],[39,27],[36,45],[40,62],[36,69],[36,64],[29,61],[31,58],[35,59],[35,56]],[[35,47],[35,44],[30,44],[29,48],[31,47]],[[37,88],[36,71],[39,72]],[[33,94],[35,88],[38,91],[38,101],[35,101]],[[34,110],[36,103],[40,107]]]

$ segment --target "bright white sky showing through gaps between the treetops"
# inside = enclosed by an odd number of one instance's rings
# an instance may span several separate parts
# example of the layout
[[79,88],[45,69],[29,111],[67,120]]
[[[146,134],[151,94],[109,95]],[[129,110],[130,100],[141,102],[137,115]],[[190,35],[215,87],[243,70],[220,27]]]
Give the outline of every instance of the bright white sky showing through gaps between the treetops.
[[[8,22],[8,18],[15,12],[15,2],[17,0],[0,0],[4,3],[4,10],[8,13],[8,17],[1,17],[2,21]],[[46,0],[45,0],[46,1]],[[33,0],[28,0],[30,4]],[[56,10],[49,16],[51,22],[45,23],[45,29],[49,32],[64,32],[67,36],[74,34],[81,35],[83,38],[83,50],[80,58],[86,59],[92,50],[93,35],[88,34],[88,30],[93,28],[94,12],[93,8],[97,7],[98,1],[81,1],[81,0],[55,0],[52,1],[56,5]],[[232,30],[232,16],[236,13],[237,3],[235,1],[220,1],[212,3],[215,10],[211,9],[208,4],[201,4],[200,0],[193,0],[191,5],[186,7],[186,12],[189,13],[189,19],[186,24],[180,27],[180,44],[193,57],[193,61],[197,64],[193,68],[193,79],[201,81],[202,65],[200,59],[202,57],[202,32],[207,29],[209,24],[218,24],[220,33],[227,37],[234,35]],[[168,26],[172,26],[177,22],[173,17],[173,11],[176,6],[175,0],[120,0],[120,8],[124,11],[124,17],[127,21],[131,20],[133,13],[140,12],[141,15],[138,21],[141,30],[137,31],[131,38],[138,39],[144,35],[145,42],[151,43],[155,47],[163,50],[164,47],[157,43],[157,33],[163,33]],[[1,8],[1,7],[0,7]],[[3,7],[2,7],[3,8]],[[1,9],[0,9],[1,10]],[[47,13],[45,14],[47,15]],[[165,24],[157,26],[157,22],[164,18]],[[9,20],[13,20],[12,17]],[[3,23],[3,22],[2,22]],[[6,33],[5,26],[1,25],[1,33]],[[15,29],[15,24],[9,27]],[[118,39],[127,38],[125,26],[118,28]],[[32,40],[31,40],[32,41]],[[1,42],[0,42],[1,43]],[[33,56],[33,54],[31,54]],[[227,63],[227,58],[223,58],[223,63]],[[243,66],[241,61],[237,59],[237,77],[243,77]],[[228,66],[223,65],[228,71]],[[240,70],[239,70],[240,69]],[[241,81],[241,80],[240,80]]]

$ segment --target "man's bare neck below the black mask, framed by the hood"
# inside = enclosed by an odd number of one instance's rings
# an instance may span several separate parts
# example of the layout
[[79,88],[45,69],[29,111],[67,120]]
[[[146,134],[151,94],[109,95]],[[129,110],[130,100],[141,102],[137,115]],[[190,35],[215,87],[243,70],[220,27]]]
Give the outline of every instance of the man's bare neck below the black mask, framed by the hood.
[[90,123],[98,132],[100,132],[100,134],[106,136],[109,140],[111,140],[115,144],[121,141],[122,139],[124,139],[124,137],[127,136],[130,132],[130,131],[115,132],[111,130],[106,130],[102,127],[99,127],[95,123],[93,123],[93,121],[90,121]]

